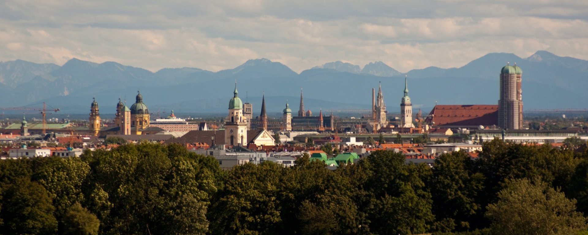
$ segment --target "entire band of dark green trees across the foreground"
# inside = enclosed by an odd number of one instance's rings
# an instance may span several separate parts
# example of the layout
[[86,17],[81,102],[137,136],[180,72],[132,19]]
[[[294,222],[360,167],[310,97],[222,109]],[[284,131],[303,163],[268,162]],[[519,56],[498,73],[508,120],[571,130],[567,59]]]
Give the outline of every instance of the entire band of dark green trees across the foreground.
[[220,170],[181,145],[0,160],[1,234],[588,234],[588,152],[486,142]]

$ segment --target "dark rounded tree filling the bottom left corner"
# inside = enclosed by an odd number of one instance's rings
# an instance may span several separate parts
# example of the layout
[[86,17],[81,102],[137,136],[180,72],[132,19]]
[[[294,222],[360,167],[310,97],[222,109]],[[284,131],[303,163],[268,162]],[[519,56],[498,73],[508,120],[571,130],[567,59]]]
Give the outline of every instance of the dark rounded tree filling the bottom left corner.
[[[4,187],[4,186],[3,186]],[[0,218],[4,234],[55,234],[57,220],[49,193],[41,184],[21,178],[9,184],[2,195]]]

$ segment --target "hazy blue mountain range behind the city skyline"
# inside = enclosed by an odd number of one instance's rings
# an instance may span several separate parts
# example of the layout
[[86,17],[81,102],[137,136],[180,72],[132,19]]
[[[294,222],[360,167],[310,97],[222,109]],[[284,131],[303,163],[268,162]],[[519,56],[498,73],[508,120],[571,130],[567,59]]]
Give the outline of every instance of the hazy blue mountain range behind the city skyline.
[[[439,104],[496,104],[499,73],[507,62],[523,69],[524,110],[588,108],[588,61],[538,51],[528,58],[489,53],[460,68],[414,69],[406,72],[413,108],[428,113]],[[251,59],[234,69],[211,72],[198,68],[165,68],[151,72],[116,62],[71,59],[64,65],[22,60],[0,62],[0,107],[46,102],[63,113],[89,112],[92,98],[101,113],[115,112],[118,98],[130,106],[140,90],[151,112],[226,112],[235,79],[239,97],[259,112],[265,92],[268,113],[279,113],[286,101],[297,112],[300,88],[305,107],[370,109],[372,88],[381,82],[387,110],[399,112],[404,73],[383,62],[363,66],[340,61],[294,72],[268,59]]]

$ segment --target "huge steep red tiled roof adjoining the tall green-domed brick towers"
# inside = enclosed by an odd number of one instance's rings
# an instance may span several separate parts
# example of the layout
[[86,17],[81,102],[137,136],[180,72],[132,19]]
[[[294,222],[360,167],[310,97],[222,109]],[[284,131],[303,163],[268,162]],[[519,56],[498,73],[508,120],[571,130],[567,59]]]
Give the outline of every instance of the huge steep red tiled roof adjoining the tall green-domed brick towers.
[[498,125],[498,105],[435,105],[427,123],[435,126]]

